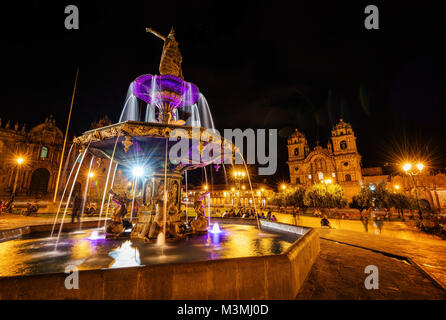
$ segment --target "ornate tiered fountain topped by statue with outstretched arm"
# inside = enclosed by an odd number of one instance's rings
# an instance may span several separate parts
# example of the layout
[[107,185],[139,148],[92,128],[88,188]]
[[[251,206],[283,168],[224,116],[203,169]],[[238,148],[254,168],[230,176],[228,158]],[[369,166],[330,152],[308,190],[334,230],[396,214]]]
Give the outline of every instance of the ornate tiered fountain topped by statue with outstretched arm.
[[[179,214],[181,183],[185,170],[203,167],[213,161],[185,164],[173,163],[167,159],[170,148],[176,143],[169,141],[169,136],[176,128],[181,128],[187,133],[186,138],[192,142],[190,153],[201,153],[206,145],[192,133],[197,129],[202,133],[205,128],[185,126],[186,122],[179,114],[183,108],[197,103],[199,90],[194,84],[183,80],[182,57],[173,29],[167,37],[150,28],[146,31],[164,41],[160,75],[142,75],[132,82],[130,90],[134,97],[152,108],[153,121],[122,121],[87,131],[75,138],[74,143],[88,148],[95,157],[110,159],[110,165],[116,162],[128,168],[135,165],[149,168],[142,182],[146,210],[144,213],[138,213],[131,235],[156,239],[165,230],[166,239],[179,239],[190,233],[207,232],[203,196],[194,202],[196,218],[189,223],[182,220]],[[188,116],[187,112],[183,114]],[[217,143],[228,147],[227,142],[222,143],[220,140]],[[112,213],[105,230],[107,237],[119,237],[131,226],[126,218],[129,199],[124,195],[117,195],[112,190],[110,197],[118,208]]]

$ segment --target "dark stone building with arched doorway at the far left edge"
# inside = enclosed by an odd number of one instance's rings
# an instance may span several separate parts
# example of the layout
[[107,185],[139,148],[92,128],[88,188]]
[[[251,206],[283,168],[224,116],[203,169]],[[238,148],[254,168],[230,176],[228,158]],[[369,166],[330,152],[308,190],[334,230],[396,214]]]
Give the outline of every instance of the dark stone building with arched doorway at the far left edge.
[[[47,194],[54,191],[63,134],[53,117],[31,130],[0,118],[0,196]],[[23,162],[17,161],[19,158]],[[21,162],[21,163],[19,163]]]

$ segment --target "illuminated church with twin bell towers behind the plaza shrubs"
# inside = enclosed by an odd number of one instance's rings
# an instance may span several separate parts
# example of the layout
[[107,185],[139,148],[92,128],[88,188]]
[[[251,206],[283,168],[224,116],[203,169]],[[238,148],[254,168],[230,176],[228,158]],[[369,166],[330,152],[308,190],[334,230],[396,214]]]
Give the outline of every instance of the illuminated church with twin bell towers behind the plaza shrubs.
[[352,126],[342,119],[331,131],[326,148],[313,150],[297,129],[288,138],[290,182],[294,185],[332,182],[340,184],[348,200],[362,185],[361,155]]

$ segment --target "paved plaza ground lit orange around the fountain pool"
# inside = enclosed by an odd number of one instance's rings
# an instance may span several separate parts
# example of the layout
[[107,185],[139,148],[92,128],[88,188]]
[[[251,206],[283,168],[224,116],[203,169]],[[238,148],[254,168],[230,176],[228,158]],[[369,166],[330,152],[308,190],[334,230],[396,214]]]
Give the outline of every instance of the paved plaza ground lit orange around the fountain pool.
[[[294,224],[292,215],[274,213],[279,222]],[[68,219],[71,219],[69,217]],[[98,217],[84,218],[97,220]],[[58,220],[61,220],[59,218]],[[0,216],[0,230],[51,224],[54,218]],[[446,242],[419,232],[405,222],[330,219],[301,216],[297,223],[317,229],[321,252],[297,299],[446,299]],[[379,270],[379,290],[364,286],[364,269]]]

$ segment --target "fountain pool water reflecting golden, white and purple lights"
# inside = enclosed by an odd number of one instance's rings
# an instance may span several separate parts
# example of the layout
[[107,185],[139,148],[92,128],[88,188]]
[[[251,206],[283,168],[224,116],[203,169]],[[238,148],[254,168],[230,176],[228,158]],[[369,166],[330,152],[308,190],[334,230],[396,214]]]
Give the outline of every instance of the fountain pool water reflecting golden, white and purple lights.
[[297,239],[296,235],[259,233],[255,226],[220,227],[221,233],[167,242],[164,256],[159,246],[139,239],[89,239],[95,229],[61,234],[57,251],[55,238],[25,236],[0,243],[0,276],[64,272],[68,265],[87,270],[272,255]]

